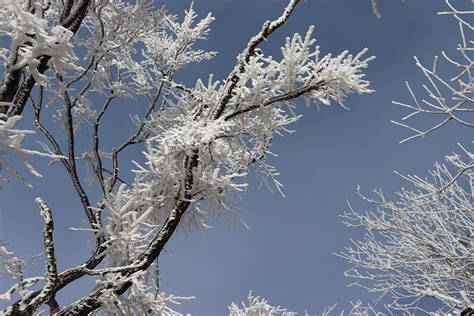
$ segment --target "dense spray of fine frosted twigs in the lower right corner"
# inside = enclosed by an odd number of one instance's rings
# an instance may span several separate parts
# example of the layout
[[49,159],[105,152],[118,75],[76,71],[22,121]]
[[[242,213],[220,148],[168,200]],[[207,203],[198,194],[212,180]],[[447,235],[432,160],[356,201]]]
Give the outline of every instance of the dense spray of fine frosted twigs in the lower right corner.
[[473,306],[474,172],[467,166],[474,155],[464,156],[436,164],[431,181],[405,177],[414,190],[402,189],[395,201],[375,191],[376,198],[361,195],[375,210],[344,214],[347,226],[366,230],[341,254],[353,265],[346,273],[353,284],[391,293],[392,307],[416,310],[426,296],[439,300],[444,312]]

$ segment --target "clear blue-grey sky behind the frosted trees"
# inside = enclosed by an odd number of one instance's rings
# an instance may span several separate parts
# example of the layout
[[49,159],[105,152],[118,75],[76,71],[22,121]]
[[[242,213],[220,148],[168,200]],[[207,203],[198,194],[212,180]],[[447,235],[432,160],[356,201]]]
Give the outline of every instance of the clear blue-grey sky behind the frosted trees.
[[[456,143],[472,148],[472,130],[455,125],[424,140],[398,143],[410,133],[390,120],[400,119],[407,112],[391,101],[410,101],[405,80],[422,94],[418,87],[423,77],[413,56],[429,64],[442,50],[454,52],[459,32],[454,19],[436,15],[445,9],[444,1],[379,2],[382,19],[373,15],[369,0],[307,0],[265,43],[266,54],[279,56],[286,36],[304,34],[310,25],[315,25],[314,35],[323,53],[345,49],[357,53],[367,47],[377,57],[367,70],[376,92],[352,95],[346,102],[350,111],[333,105],[318,112],[315,106],[306,108],[301,104],[303,117],[293,126],[296,132],[276,138],[272,147],[279,155],[272,161],[281,172],[286,198],[265,188],[258,190],[258,184],[252,183],[239,203],[250,230],[240,222],[227,227],[216,219],[211,220],[214,228],[203,235],[186,237],[180,233],[172,238],[167,254],[161,257],[163,290],[196,296],[180,311],[224,315],[227,305],[244,300],[249,290],[270,303],[303,314],[305,310],[319,313],[334,303],[347,308],[350,300],[362,298],[371,302],[376,298],[365,290],[347,287],[350,280],[343,273],[348,265],[333,254],[348,245],[349,238],[361,233],[340,222],[338,215],[347,209],[346,199],[364,210],[365,205],[354,194],[357,185],[367,193],[381,187],[391,196],[400,187],[409,186],[394,170],[428,176],[435,161],[459,151]],[[189,3],[175,0],[166,6],[171,12],[180,13]],[[466,7],[471,1],[452,3]],[[286,1],[277,0],[194,1],[200,16],[212,11],[216,17],[202,47],[219,54],[210,62],[184,69],[178,80],[192,85],[209,73],[225,78],[248,39],[265,20],[277,17],[285,4]],[[130,111],[123,104],[123,109],[114,114],[117,116],[110,118],[110,134],[106,137],[116,138],[117,126],[127,120],[123,114]],[[422,119],[419,123],[426,125],[429,121]],[[0,192],[0,236],[19,255],[41,252],[42,220],[34,198],[44,197],[54,211],[57,257],[63,270],[89,255],[91,244],[84,241],[91,236],[68,229],[87,225],[61,166],[50,168],[45,161],[36,160],[35,166],[44,170],[45,177],[32,179],[34,188],[12,180]],[[43,271],[40,263],[30,273]],[[5,278],[0,278],[0,291],[8,285]],[[87,282],[70,286],[58,300],[66,305],[88,289]]]

